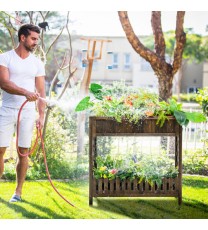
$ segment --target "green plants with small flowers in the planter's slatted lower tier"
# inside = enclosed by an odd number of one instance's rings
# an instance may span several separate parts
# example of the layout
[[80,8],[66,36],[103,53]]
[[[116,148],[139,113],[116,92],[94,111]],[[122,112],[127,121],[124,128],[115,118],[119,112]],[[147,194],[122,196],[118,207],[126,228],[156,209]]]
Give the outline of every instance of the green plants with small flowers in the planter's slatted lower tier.
[[178,169],[174,161],[164,154],[138,155],[132,158],[97,156],[94,176],[96,179],[135,179],[145,180],[153,185],[161,185],[163,178],[175,178]]

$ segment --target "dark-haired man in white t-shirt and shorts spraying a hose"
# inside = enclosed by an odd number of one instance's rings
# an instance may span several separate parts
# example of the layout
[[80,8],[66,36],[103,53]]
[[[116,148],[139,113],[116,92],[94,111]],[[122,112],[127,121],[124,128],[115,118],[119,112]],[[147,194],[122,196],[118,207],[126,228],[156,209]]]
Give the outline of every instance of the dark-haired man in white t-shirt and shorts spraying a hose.
[[[0,54],[0,87],[2,106],[0,108],[0,178],[4,171],[6,148],[10,146],[16,128],[17,114],[25,100],[19,124],[19,150],[26,154],[31,145],[36,110],[39,117],[36,126],[44,125],[45,103],[38,100],[45,98],[45,69],[43,63],[32,52],[37,46],[40,29],[31,24],[24,24],[18,31],[19,45],[16,49]],[[21,201],[22,187],[28,169],[28,157],[18,154],[16,166],[17,186],[10,202]]]

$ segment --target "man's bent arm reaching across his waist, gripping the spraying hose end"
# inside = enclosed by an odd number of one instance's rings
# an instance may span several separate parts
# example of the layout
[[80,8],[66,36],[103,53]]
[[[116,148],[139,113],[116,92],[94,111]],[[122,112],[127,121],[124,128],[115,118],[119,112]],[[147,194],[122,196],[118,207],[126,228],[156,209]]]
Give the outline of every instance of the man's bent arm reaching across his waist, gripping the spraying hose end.
[[0,88],[10,94],[22,95],[27,98],[28,101],[35,101],[39,95],[34,92],[30,92],[24,88],[18,87],[14,82],[9,80],[9,70],[0,65]]

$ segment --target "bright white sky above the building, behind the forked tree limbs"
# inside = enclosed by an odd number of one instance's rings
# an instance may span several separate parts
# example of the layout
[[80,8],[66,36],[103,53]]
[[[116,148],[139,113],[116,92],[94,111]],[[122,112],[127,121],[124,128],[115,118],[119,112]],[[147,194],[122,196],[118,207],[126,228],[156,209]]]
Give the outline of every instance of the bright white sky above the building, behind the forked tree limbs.
[[[128,11],[132,27],[137,35],[152,34],[151,11]],[[82,35],[124,36],[117,11],[71,11],[71,31]],[[162,11],[163,31],[174,30],[176,11]],[[184,28],[193,28],[195,33],[205,35],[208,11],[186,11]]]

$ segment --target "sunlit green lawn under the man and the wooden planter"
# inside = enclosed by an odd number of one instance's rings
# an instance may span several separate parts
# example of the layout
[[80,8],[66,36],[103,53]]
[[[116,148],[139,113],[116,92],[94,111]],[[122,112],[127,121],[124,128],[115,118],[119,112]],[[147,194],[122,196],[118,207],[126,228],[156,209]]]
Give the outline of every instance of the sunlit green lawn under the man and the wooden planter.
[[208,177],[183,176],[183,203],[176,198],[94,198],[88,205],[88,181],[26,181],[23,202],[9,203],[15,182],[0,182],[0,219],[207,219]]

